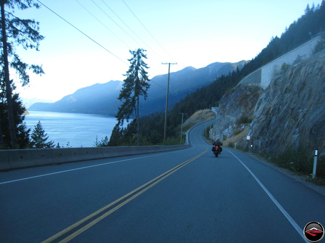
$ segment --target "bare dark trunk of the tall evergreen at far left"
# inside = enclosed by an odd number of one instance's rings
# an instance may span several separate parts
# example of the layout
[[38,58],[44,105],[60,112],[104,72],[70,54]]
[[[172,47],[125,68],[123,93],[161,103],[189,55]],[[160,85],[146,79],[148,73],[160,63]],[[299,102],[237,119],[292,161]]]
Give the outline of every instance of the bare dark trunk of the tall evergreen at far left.
[[4,71],[5,71],[5,83],[6,83],[6,99],[7,99],[9,132],[10,132],[11,148],[15,149],[17,146],[17,137],[16,137],[14,114],[13,114],[13,109],[12,109],[12,101],[11,101],[12,90],[11,90],[10,79],[9,79],[9,62],[8,62],[8,50],[7,50],[5,3],[6,3],[6,0],[1,0],[2,43],[3,43]]

